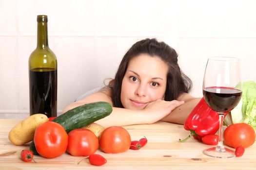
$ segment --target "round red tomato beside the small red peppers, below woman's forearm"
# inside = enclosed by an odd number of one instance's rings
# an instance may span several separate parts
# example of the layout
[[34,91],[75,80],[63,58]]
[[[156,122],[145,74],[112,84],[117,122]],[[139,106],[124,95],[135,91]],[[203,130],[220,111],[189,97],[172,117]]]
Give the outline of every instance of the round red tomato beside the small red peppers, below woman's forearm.
[[100,138],[99,147],[105,153],[122,153],[131,146],[131,136],[121,126],[111,126],[106,128]]

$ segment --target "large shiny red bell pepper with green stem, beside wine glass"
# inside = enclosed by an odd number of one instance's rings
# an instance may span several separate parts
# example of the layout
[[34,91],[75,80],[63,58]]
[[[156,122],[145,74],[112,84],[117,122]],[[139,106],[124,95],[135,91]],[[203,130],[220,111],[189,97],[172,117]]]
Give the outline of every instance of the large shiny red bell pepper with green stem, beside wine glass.
[[193,136],[195,139],[202,140],[203,136],[214,135],[219,128],[219,116],[216,111],[212,110],[204,98],[198,102],[184,123],[184,129],[190,131],[190,135],[181,140],[185,142]]

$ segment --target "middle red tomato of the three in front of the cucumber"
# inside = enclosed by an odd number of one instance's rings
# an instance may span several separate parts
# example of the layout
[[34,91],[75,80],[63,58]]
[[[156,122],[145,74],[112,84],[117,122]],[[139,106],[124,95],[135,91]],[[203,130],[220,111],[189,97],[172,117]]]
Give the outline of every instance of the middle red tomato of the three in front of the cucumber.
[[89,156],[98,150],[98,137],[88,129],[74,129],[68,133],[67,152],[73,156]]

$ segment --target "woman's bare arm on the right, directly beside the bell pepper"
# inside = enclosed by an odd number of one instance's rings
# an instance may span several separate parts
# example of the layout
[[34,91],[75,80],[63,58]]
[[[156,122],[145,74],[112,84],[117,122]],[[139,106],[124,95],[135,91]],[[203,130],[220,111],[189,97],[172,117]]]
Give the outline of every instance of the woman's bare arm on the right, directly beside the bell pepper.
[[201,100],[201,98],[194,98],[188,93],[182,93],[177,100],[184,101],[185,103],[178,106],[169,115],[161,119],[162,121],[184,124],[185,120],[197,105],[197,103]]

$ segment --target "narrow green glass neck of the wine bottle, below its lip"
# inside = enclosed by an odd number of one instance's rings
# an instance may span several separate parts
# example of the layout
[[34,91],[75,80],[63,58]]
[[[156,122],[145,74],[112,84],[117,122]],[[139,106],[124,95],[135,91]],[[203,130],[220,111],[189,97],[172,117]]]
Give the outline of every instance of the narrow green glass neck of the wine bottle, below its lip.
[[48,48],[47,22],[38,22],[38,49]]

